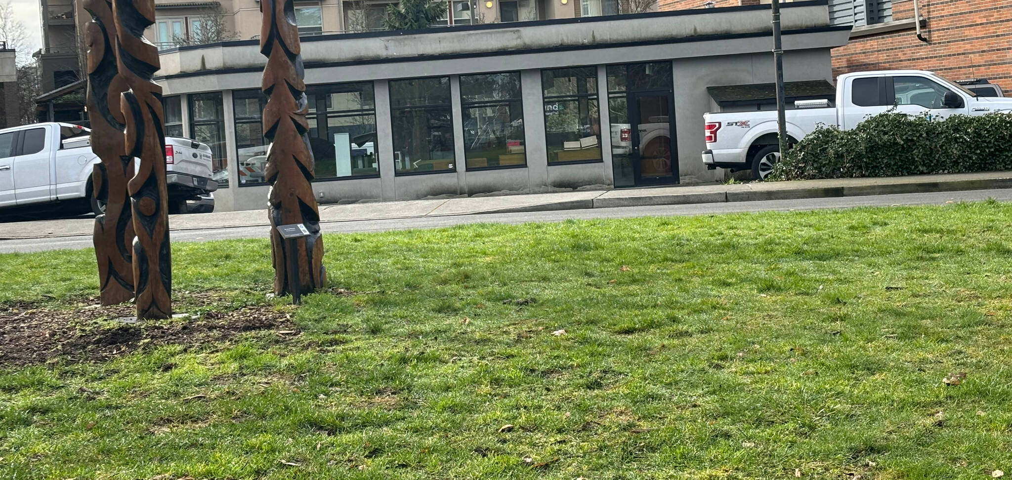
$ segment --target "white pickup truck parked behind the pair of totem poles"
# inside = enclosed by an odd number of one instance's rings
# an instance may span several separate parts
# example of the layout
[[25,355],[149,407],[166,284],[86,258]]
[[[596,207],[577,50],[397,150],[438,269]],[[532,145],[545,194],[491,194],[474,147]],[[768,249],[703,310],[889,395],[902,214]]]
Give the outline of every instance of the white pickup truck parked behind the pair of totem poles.
[[[83,126],[59,122],[0,130],[0,208],[68,202],[82,213],[104,211],[104,202],[91,195],[91,172],[99,159],[91,152],[90,134]],[[197,200],[208,211],[210,192],[218,189],[210,179],[210,160],[206,145],[165,138],[170,212],[186,212],[187,200]]]

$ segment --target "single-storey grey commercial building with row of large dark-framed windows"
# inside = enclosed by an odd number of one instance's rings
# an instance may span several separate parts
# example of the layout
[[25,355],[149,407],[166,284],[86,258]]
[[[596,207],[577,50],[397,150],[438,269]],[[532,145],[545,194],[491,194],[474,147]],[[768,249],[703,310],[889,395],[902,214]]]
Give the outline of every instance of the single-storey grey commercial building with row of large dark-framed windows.
[[[558,0],[557,0],[558,1]],[[832,80],[826,0],[783,5],[784,78]],[[708,182],[707,88],[773,81],[767,5],[303,37],[321,203]],[[257,40],[161,53],[166,132],[218,210],[263,208]]]

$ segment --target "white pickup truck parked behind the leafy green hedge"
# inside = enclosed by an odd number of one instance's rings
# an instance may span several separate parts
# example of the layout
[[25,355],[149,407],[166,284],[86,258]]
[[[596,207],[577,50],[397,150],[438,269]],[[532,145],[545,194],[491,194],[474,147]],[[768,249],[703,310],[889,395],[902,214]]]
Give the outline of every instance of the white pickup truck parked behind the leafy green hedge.
[[[891,109],[908,115],[928,112],[932,117],[1009,112],[1012,98],[978,96],[931,72],[892,70],[841,75],[836,80],[836,106],[829,105],[828,99],[795,102],[796,108],[786,112],[788,145],[821,123],[849,129]],[[763,179],[780,160],[775,110],[706,113],[703,121],[706,168],[752,170],[754,179]]]

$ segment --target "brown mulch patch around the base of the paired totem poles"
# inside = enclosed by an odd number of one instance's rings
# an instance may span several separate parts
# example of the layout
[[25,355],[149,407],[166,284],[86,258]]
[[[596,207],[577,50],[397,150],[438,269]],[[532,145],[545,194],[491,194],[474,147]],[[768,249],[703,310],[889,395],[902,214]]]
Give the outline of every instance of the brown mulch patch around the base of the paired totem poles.
[[[207,294],[193,296],[190,305],[207,304]],[[52,309],[30,303],[0,305],[0,368],[25,367],[64,358],[100,362],[142,348],[182,344],[197,346],[226,340],[244,331],[298,330],[288,313],[272,305],[243,306],[168,320],[120,323],[134,315],[130,304],[101,306],[87,299],[80,307]]]

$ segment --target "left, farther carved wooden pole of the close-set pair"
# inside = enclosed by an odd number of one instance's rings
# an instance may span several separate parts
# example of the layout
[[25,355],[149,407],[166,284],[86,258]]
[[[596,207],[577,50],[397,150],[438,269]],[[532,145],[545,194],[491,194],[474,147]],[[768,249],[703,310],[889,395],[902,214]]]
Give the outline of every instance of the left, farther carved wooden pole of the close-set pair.
[[119,94],[125,84],[116,70],[112,3],[106,0],[84,0],[83,3],[92,17],[85,30],[91,150],[101,159],[91,174],[92,195],[105,202],[105,213],[95,217],[92,239],[98,260],[101,303],[113,305],[134,298],[131,254],[134,225],[126,193],[126,181],[134,174],[134,158],[123,155]]

